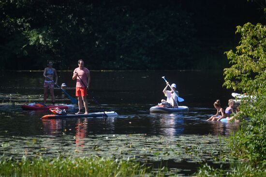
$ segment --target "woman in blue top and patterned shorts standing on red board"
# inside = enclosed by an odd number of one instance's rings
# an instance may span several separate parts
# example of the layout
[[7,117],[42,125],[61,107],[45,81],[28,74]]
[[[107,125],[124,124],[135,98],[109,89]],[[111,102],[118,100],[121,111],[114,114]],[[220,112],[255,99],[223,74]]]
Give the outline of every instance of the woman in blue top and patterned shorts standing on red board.
[[[48,88],[50,88],[52,104],[55,104],[54,85],[57,84],[58,76],[56,69],[52,67],[53,62],[48,61],[47,64],[48,67],[44,68],[44,104],[46,104]],[[56,77],[56,82],[54,82],[54,76]]]

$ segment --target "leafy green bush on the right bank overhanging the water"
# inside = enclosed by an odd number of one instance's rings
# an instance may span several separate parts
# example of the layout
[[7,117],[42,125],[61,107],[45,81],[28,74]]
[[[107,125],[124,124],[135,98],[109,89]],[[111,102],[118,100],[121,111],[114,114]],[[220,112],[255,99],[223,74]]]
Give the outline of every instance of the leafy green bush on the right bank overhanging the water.
[[236,52],[225,52],[231,67],[224,69],[224,86],[250,95],[242,100],[239,116],[250,121],[242,120],[230,145],[234,155],[266,166],[266,26],[247,23],[236,33],[241,41]]

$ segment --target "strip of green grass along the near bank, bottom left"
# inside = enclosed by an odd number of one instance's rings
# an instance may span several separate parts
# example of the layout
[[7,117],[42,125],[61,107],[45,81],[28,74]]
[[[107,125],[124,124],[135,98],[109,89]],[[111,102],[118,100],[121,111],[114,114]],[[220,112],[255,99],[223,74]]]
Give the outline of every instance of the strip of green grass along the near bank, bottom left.
[[135,177],[157,176],[164,173],[154,172],[138,162],[104,158],[26,158],[15,161],[0,161],[0,177]]

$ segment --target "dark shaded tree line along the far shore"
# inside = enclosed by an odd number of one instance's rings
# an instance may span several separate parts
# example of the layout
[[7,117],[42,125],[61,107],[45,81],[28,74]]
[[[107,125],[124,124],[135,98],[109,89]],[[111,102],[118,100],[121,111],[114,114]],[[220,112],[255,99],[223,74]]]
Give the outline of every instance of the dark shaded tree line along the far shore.
[[215,19],[202,15],[214,7],[206,2],[2,0],[0,69],[40,70],[53,60],[67,70],[78,59],[95,70],[222,68],[232,44],[206,35]]

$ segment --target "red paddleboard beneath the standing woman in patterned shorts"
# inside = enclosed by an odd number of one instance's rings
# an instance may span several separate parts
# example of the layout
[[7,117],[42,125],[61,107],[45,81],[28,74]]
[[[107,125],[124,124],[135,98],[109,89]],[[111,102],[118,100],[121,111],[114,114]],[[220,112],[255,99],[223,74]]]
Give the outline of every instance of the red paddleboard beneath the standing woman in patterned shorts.
[[58,105],[43,105],[40,103],[30,103],[21,106],[23,110],[49,110],[50,108],[58,107],[60,109],[74,108],[74,104],[58,104]]

